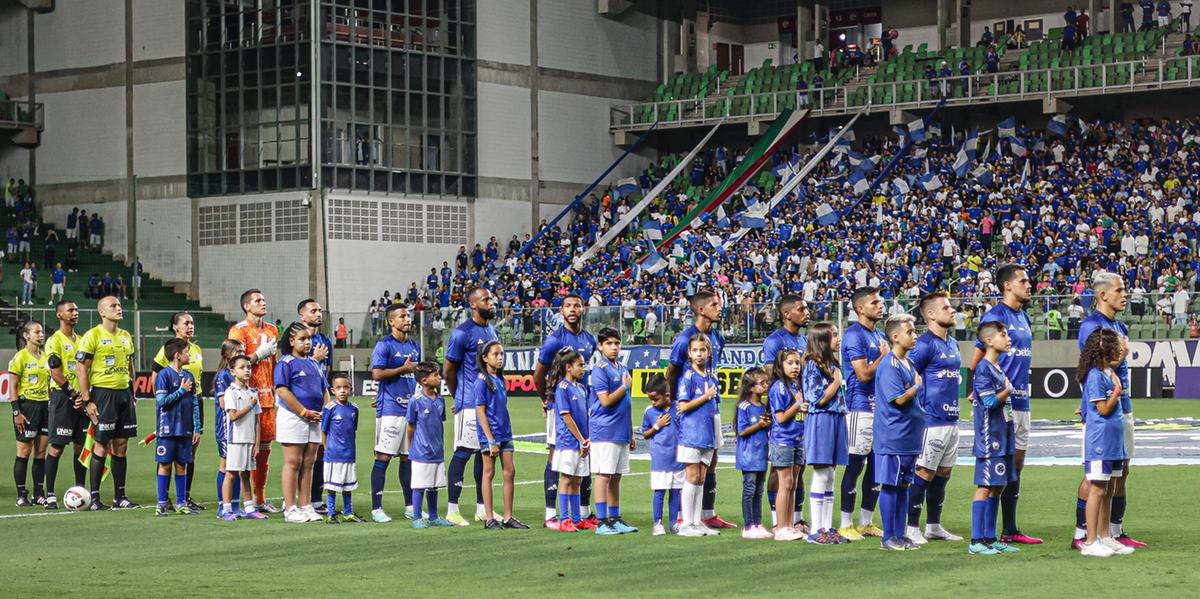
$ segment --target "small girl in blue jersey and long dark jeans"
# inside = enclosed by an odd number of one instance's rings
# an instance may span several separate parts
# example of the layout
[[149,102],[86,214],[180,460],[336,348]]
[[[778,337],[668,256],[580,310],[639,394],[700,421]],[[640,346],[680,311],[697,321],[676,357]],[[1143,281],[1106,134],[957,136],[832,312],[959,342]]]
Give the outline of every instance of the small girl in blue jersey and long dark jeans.
[[737,468],[742,471],[743,539],[770,539],[775,535],[762,526],[762,489],[767,481],[767,431],[770,411],[763,403],[770,381],[762,369],[750,369],[742,376],[738,393]]

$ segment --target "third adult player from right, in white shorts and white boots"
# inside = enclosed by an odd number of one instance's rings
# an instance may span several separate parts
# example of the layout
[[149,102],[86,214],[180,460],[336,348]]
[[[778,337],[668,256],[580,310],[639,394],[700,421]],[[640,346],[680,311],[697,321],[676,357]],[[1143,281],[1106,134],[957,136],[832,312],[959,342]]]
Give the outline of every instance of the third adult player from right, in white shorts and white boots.
[[[925,438],[917,456],[917,472],[908,489],[908,528],[905,537],[917,545],[926,539],[962,540],[942,527],[942,503],[946,485],[959,454],[959,384],[962,382],[962,358],[959,343],[950,336],[954,306],[944,292],[920,299],[917,310],[929,329],[917,339],[908,354],[924,385],[917,401],[925,411]],[[925,534],[920,533],[920,511],[929,501]]]

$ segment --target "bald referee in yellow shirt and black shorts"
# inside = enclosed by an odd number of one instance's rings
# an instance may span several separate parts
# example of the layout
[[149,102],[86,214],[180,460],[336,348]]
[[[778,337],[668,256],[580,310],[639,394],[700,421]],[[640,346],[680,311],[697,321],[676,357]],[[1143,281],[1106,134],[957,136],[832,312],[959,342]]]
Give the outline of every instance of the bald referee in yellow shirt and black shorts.
[[133,403],[133,336],[120,328],[125,312],[121,300],[106,295],[96,305],[100,324],[79,340],[76,352],[76,379],[79,396],[76,407],[86,407],[96,423],[90,479],[92,511],[110,509],[100,501],[100,483],[104,475],[104,457],[113,456],[113,505],[133,509],[138,504],[125,496],[128,462],[125,454],[130,438],[138,435],[138,413]]

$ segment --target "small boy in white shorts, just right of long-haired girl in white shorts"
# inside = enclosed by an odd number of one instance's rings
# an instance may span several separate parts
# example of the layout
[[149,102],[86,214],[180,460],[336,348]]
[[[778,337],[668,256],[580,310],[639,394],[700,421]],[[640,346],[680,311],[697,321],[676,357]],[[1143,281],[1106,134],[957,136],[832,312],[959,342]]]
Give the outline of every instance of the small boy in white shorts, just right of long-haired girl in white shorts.
[[[354,438],[359,430],[359,408],[350,403],[350,377],[330,377],[334,401],[320,411],[320,439],[325,447],[325,522],[366,522],[354,513],[352,491],[359,487],[354,468]],[[342,515],[337,515],[337,492],[342,492]]]

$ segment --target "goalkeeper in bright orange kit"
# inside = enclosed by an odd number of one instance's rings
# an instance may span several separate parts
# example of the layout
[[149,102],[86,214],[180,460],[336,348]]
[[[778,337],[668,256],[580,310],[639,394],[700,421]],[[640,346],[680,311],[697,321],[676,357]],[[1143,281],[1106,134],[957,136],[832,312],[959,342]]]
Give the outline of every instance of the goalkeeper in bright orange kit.
[[266,298],[258,289],[241,294],[241,310],[246,318],[229,328],[229,339],[241,341],[246,355],[253,365],[250,385],[258,390],[258,453],[254,454],[254,503],[268,514],[278,514],[280,508],[266,502],[266,473],[270,471],[271,443],[275,441],[275,349],[280,330],[263,319],[266,316]]

